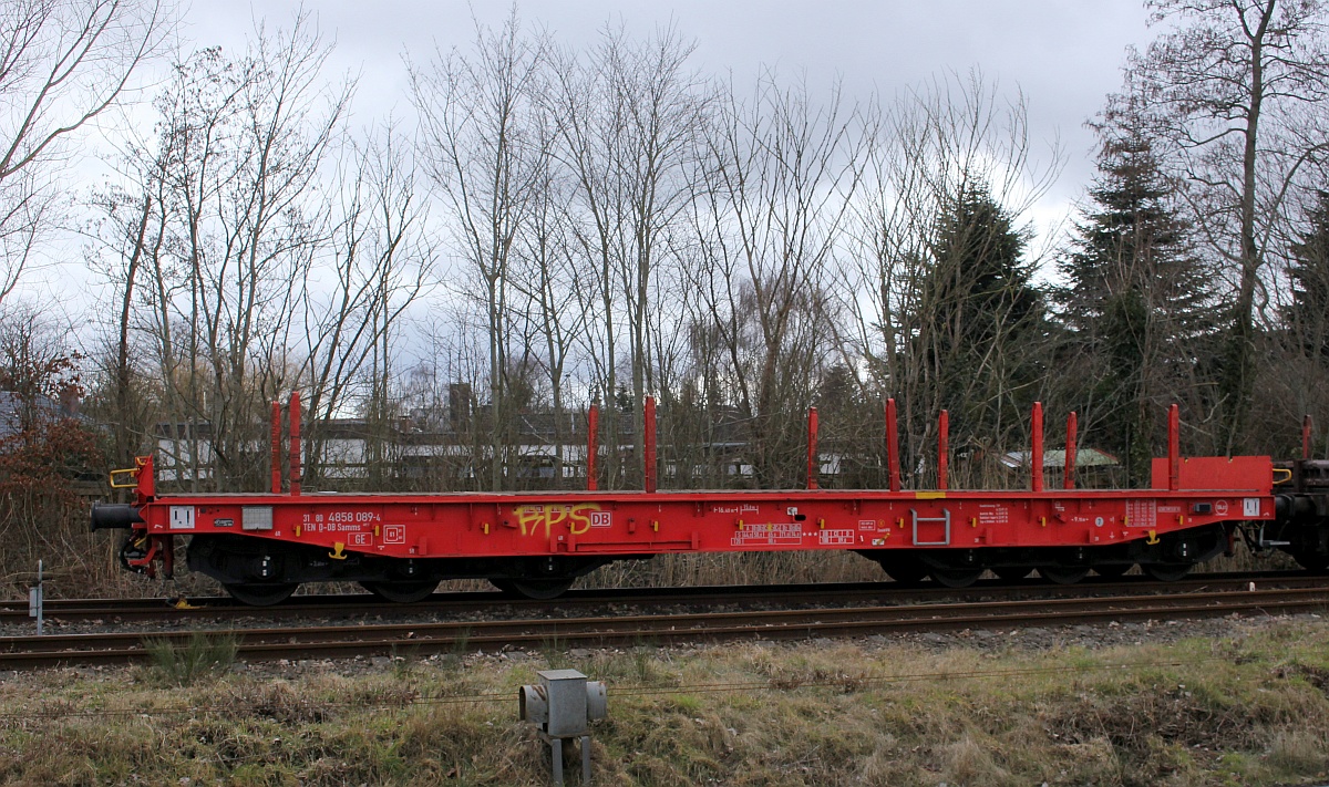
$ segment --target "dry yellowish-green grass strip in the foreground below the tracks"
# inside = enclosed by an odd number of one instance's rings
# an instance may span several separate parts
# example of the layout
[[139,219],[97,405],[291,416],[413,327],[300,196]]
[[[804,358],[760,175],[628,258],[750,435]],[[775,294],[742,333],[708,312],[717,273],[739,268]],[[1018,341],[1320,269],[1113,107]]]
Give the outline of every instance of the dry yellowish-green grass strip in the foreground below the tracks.
[[[1293,784],[1329,768],[1329,625],[1310,621],[1099,651],[643,645],[557,661],[610,685],[601,784]],[[542,784],[546,747],[514,690],[544,666],[328,663],[173,689],[148,667],[16,675],[0,682],[0,782]]]

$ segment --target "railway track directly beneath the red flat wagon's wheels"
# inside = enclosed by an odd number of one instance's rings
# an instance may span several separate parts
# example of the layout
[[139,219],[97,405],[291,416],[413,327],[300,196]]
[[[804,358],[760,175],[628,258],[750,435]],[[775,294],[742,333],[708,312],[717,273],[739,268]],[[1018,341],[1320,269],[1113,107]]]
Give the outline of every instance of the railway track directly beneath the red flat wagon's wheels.
[[[494,610],[595,609],[606,605],[668,606],[688,605],[714,608],[763,604],[920,604],[946,600],[1021,600],[1045,597],[1079,597],[1102,594],[1176,593],[1179,590],[1241,590],[1251,582],[1276,584],[1278,588],[1329,586],[1329,578],[1304,572],[1243,572],[1195,574],[1175,582],[1156,582],[1147,577],[1116,580],[1092,578],[1075,585],[1054,585],[1039,580],[1006,582],[981,581],[966,589],[940,586],[910,588],[896,582],[835,582],[807,585],[699,586],[699,588],[627,588],[573,590],[558,598],[537,601],[513,598],[497,592],[436,593],[416,604],[381,601],[369,594],[296,596],[267,608],[254,608],[219,597],[190,598],[185,608],[162,598],[61,598],[48,600],[44,614],[61,622],[189,622],[209,619],[280,619],[344,617],[424,617]],[[0,623],[31,623],[27,601],[0,601]],[[3,630],[3,629],[0,629]]]

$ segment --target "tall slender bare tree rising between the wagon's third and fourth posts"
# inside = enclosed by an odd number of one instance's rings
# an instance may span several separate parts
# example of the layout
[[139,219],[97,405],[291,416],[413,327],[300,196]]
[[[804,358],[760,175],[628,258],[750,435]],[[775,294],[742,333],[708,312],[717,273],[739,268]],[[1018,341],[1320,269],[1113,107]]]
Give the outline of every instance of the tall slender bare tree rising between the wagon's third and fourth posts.
[[[637,476],[645,472],[643,403],[654,390],[650,314],[659,307],[655,269],[668,255],[668,234],[683,226],[698,162],[696,132],[711,102],[687,68],[694,44],[674,28],[634,44],[607,28],[586,58],[563,53],[549,90],[560,124],[560,158],[577,183],[574,227],[594,282],[578,292],[598,311],[590,352],[606,397],[618,394],[618,348],[627,334]],[[593,296],[590,296],[593,294]],[[623,314],[618,315],[617,303]],[[613,429],[614,419],[610,419]],[[609,444],[617,443],[610,431]],[[613,473],[617,463],[610,463]],[[615,479],[610,476],[610,484]]]

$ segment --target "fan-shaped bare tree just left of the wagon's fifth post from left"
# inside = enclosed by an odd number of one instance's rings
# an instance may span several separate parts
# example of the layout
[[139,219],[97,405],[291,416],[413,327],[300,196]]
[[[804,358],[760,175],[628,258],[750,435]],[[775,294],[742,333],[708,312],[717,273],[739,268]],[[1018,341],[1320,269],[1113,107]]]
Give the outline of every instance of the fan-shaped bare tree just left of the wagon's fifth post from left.
[[756,481],[791,484],[801,475],[803,413],[832,356],[825,294],[863,137],[839,90],[819,106],[805,86],[772,74],[748,102],[731,94],[720,114],[694,286],[728,356]]

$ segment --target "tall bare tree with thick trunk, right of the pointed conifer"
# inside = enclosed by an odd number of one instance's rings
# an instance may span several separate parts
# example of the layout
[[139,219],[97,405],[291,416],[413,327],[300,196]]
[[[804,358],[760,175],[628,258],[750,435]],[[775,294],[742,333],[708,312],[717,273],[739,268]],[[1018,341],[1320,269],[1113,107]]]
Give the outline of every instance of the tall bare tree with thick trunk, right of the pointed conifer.
[[1151,0],[1176,25],[1132,53],[1126,88],[1151,108],[1159,153],[1212,253],[1232,271],[1219,388],[1227,449],[1241,447],[1255,386],[1263,273],[1301,174],[1329,150],[1329,48],[1318,0]]

